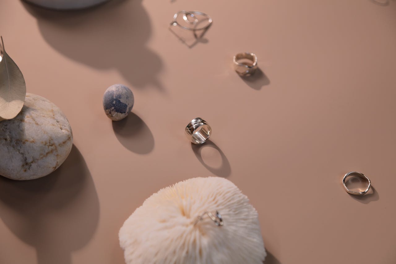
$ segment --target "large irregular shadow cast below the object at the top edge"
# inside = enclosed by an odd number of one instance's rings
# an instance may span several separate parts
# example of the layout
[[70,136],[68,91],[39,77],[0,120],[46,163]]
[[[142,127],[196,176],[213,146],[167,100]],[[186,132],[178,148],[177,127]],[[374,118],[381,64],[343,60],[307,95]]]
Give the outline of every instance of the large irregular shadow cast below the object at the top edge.
[[163,63],[147,46],[152,24],[143,0],[112,0],[82,10],[57,11],[22,1],[44,40],[60,54],[101,70],[116,69],[134,88],[158,80]]

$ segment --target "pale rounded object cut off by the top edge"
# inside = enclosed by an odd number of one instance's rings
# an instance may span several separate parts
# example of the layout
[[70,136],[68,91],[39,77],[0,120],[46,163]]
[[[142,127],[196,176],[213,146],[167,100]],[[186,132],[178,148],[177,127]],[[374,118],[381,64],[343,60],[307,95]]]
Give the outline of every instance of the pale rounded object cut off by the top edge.
[[108,0],[25,0],[44,8],[69,10],[96,6]]

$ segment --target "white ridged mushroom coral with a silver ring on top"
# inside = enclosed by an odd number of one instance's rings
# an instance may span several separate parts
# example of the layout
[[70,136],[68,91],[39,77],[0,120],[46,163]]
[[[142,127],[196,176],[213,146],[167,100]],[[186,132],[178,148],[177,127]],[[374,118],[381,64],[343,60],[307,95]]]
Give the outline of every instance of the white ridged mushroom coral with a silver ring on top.
[[[205,211],[218,210],[224,226]],[[119,233],[127,264],[262,264],[257,211],[224,178],[192,178],[149,197]]]

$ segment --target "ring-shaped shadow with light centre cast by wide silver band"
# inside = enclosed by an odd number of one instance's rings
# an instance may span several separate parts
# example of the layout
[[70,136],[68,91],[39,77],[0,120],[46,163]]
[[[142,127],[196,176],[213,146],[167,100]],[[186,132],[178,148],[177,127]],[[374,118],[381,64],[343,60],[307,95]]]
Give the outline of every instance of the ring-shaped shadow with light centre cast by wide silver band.
[[[216,149],[219,151],[219,154],[221,156],[221,165],[218,168],[209,166],[205,163],[204,159],[202,158],[202,148],[203,147],[212,147],[213,149]],[[207,140],[204,144],[196,145],[191,143],[191,148],[192,151],[194,152],[195,156],[197,157],[198,161],[204,165],[205,168],[207,168],[211,173],[219,176],[219,177],[228,177],[231,174],[231,166],[230,163],[227,159],[227,157],[224,155],[223,151],[211,140]]]

